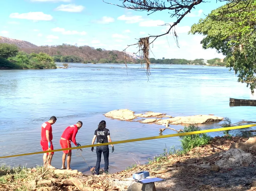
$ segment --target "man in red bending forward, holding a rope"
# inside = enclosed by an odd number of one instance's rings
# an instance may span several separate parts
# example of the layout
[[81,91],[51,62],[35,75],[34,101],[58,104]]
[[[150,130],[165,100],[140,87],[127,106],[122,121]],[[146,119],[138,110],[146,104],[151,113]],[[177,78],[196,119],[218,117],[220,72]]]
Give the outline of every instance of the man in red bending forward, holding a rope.
[[[82,125],[83,125],[83,123],[81,121],[78,121],[76,123],[76,125],[70,125],[64,130],[64,132],[63,132],[63,134],[61,135],[61,138],[60,138],[60,146],[61,146],[62,149],[71,148],[71,142],[70,141],[72,141],[76,147],[81,146],[76,141],[76,135],[77,135],[77,131],[82,127]],[[70,168],[71,150],[65,150],[63,152],[64,153],[62,155],[62,167],[61,167],[61,169],[72,170]],[[67,155],[68,155],[68,157],[67,157],[67,168],[66,168],[65,161],[66,161],[66,156]]]

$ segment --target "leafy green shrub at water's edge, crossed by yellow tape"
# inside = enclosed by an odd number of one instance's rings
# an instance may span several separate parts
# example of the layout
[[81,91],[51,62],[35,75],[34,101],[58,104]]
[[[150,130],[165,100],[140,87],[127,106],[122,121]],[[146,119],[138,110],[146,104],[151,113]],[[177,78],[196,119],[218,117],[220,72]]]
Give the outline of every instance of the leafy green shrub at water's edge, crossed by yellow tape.
[[[185,126],[180,133],[200,131],[201,128],[198,125],[193,124],[189,126]],[[195,147],[199,147],[201,145],[206,145],[210,141],[210,136],[207,136],[206,133],[194,134],[194,135],[184,135],[180,136],[181,138],[181,146],[183,151],[186,153]]]

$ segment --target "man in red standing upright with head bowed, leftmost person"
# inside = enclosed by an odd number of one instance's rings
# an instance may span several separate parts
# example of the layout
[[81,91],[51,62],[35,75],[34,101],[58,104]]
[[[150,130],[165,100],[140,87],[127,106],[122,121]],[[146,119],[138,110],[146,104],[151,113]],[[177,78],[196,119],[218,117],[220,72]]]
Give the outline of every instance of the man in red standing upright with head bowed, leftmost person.
[[[51,118],[49,119],[48,122],[45,122],[42,124],[42,127],[41,127],[41,147],[43,149],[43,151],[47,151],[49,149],[51,150],[54,150],[53,149],[53,145],[52,145],[52,127],[51,125],[55,124],[55,122],[57,121],[57,118],[55,116],[51,116]],[[51,152],[51,153],[44,153],[44,156],[43,156],[43,161],[44,161],[44,164],[45,164],[45,161],[48,157],[48,155],[50,154],[50,157],[49,157],[49,160],[48,160],[48,168],[50,169],[55,169],[55,167],[53,167],[51,165],[51,160],[52,160],[52,156],[54,154],[54,152]]]

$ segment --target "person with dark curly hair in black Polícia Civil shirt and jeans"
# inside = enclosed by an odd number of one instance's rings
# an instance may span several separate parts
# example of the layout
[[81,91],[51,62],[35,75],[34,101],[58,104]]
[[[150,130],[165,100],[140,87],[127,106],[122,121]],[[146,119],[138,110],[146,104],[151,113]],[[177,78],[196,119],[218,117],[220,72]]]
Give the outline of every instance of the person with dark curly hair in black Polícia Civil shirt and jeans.
[[[106,142],[112,142],[110,138],[110,132],[109,129],[106,128],[106,122],[102,120],[99,125],[98,129],[95,130],[94,136],[92,139],[92,145],[94,144],[94,141],[97,137],[97,144],[100,143],[106,143]],[[112,146],[112,152],[114,152],[114,146]],[[92,147],[92,152],[94,150],[94,147]],[[104,157],[104,162],[105,162],[105,167],[104,167],[104,172],[108,174],[109,172],[109,146],[97,146],[96,147],[96,154],[97,154],[97,162],[96,162],[96,167],[95,167],[95,174],[99,174],[100,170],[100,161],[101,161],[101,153],[103,153]]]

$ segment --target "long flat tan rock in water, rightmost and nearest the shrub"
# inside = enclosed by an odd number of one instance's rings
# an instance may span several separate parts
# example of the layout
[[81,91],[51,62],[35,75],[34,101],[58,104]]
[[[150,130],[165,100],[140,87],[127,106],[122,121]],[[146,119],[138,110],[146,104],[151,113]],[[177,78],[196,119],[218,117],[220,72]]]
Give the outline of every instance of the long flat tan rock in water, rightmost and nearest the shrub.
[[203,124],[210,123],[215,121],[223,120],[223,117],[216,117],[212,115],[193,115],[193,116],[182,116],[182,117],[173,117],[170,119],[164,119],[156,122],[156,124],[162,125],[168,122],[169,124]]

